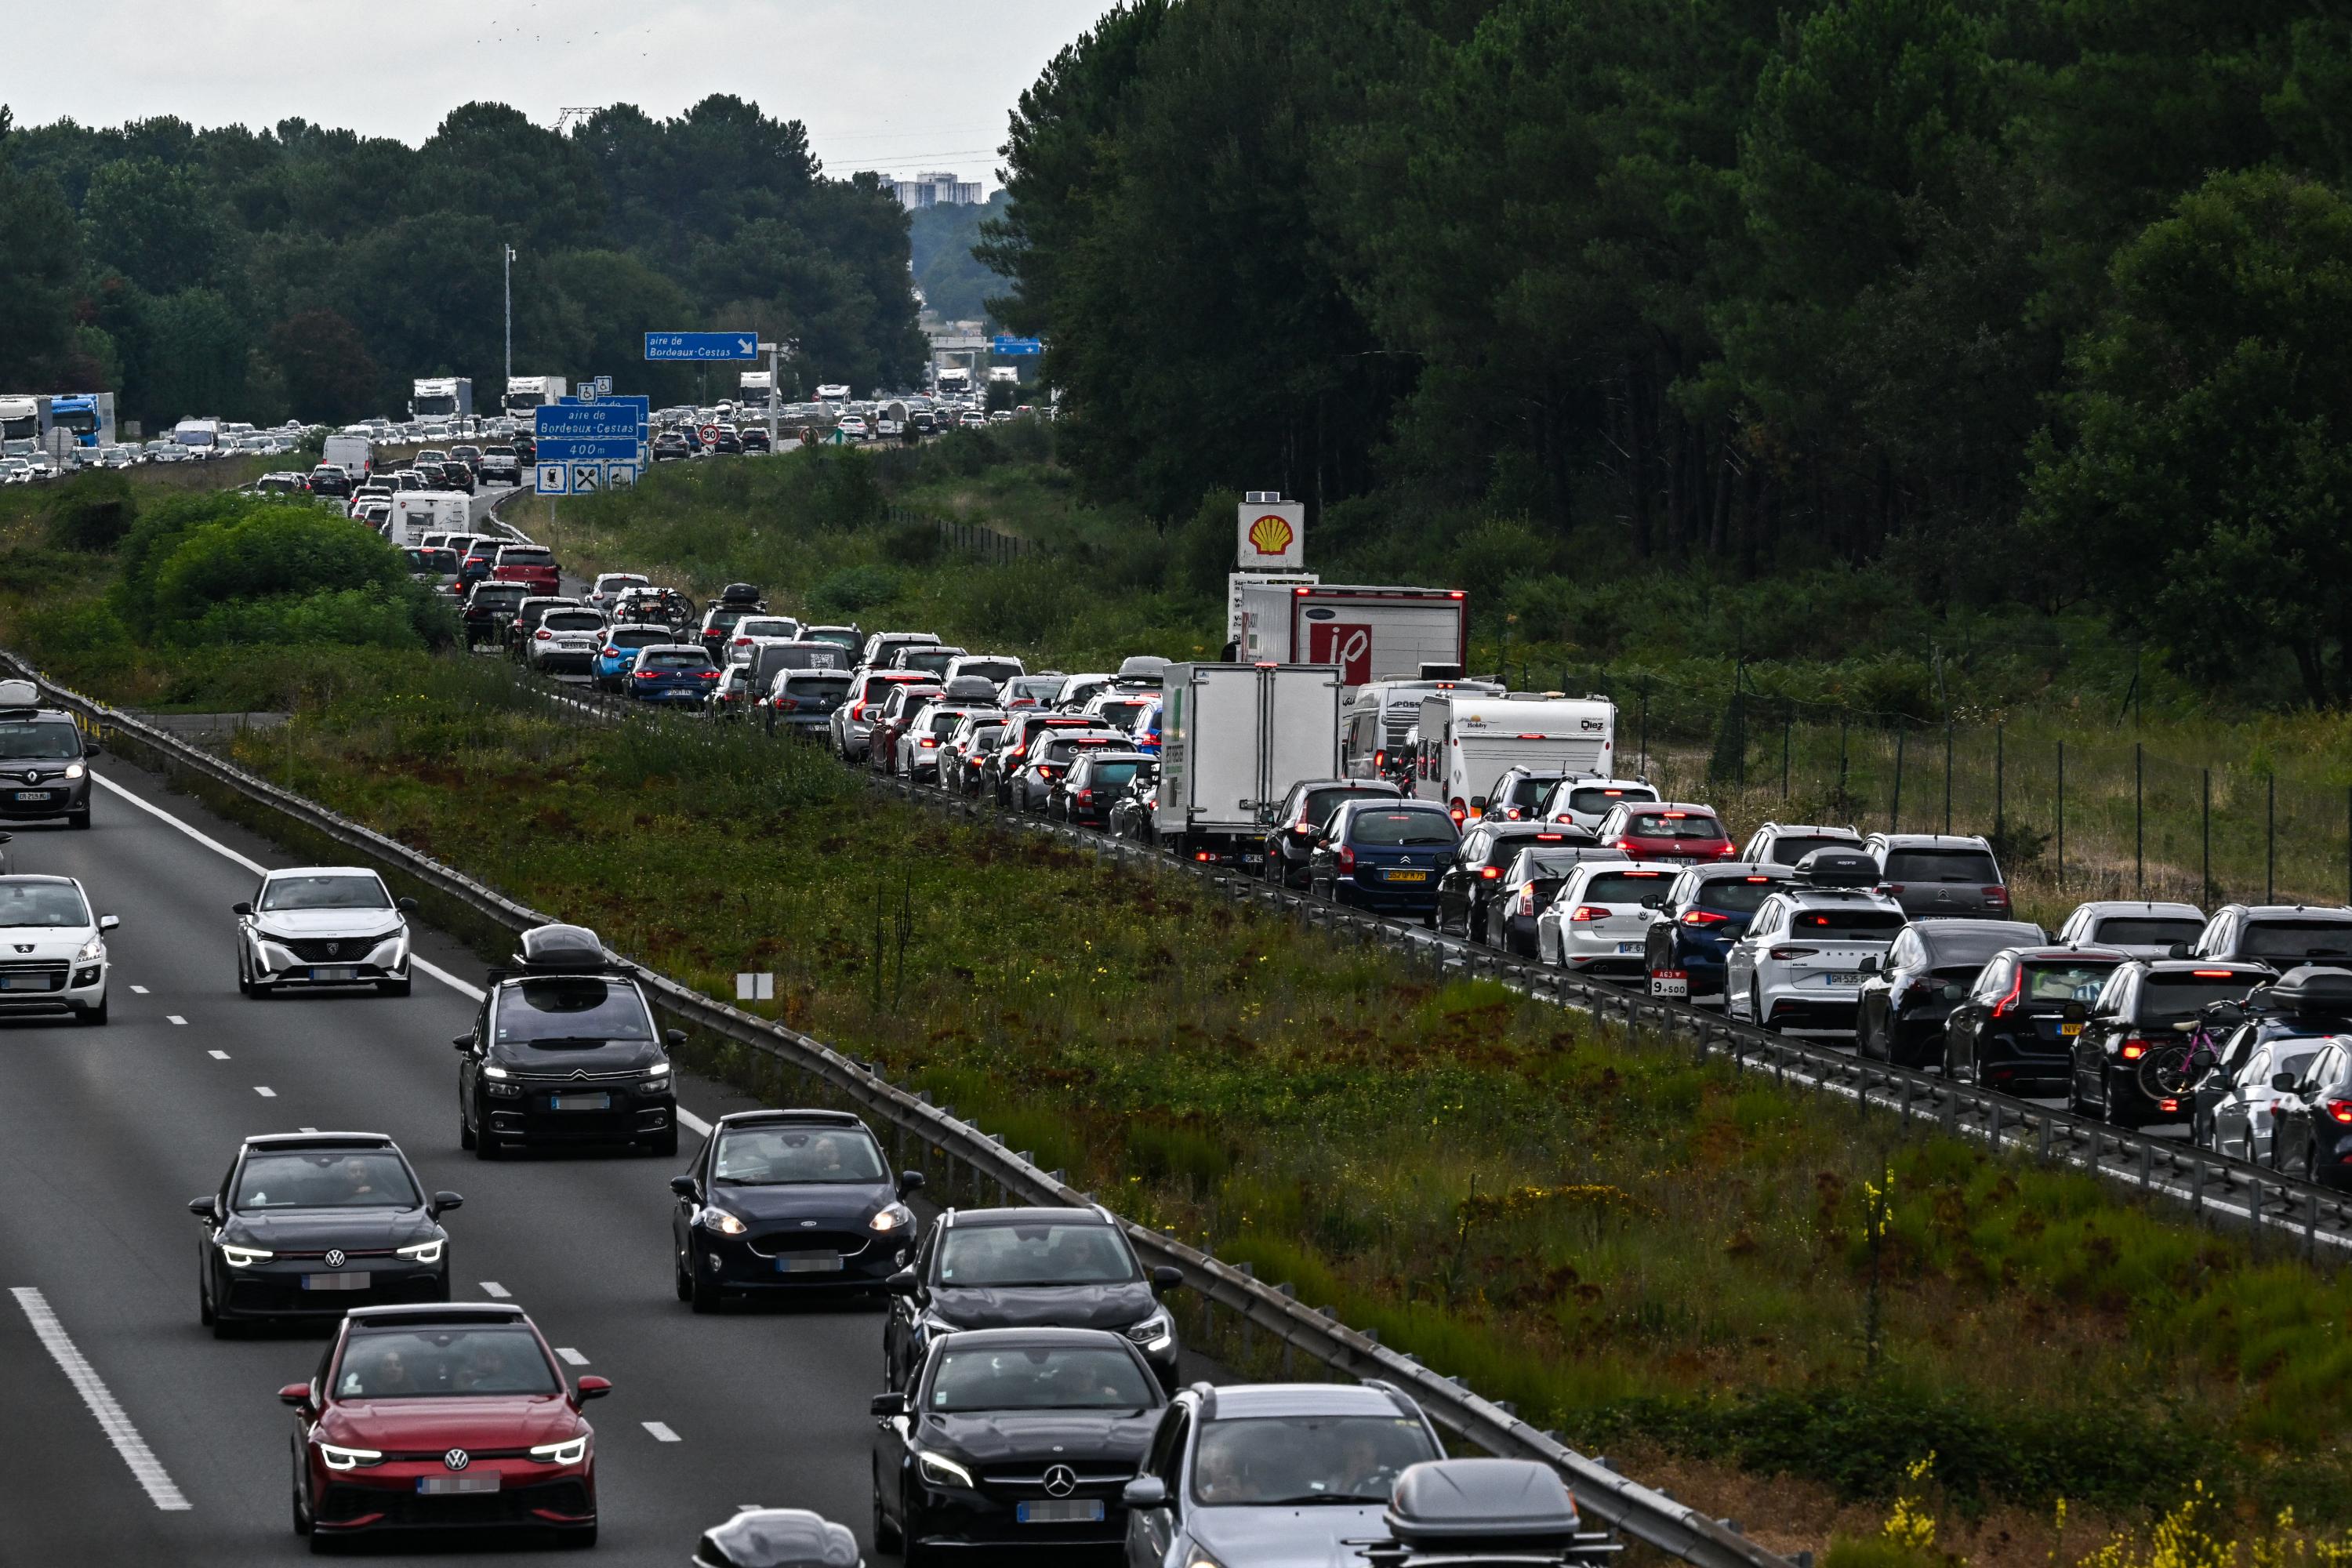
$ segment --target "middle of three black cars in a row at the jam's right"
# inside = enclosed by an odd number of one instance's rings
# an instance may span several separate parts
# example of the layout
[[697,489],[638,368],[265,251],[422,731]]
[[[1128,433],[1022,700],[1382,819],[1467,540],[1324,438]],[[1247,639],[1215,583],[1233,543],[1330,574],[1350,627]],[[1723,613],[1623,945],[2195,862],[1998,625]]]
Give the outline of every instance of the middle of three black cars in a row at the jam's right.
[[2107,976],[2126,961],[2122,952],[2100,947],[2013,947],[1994,954],[1945,1018],[1943,1074],[2025,1095],[2063,1091],[2074,1037],[2084,1032]]

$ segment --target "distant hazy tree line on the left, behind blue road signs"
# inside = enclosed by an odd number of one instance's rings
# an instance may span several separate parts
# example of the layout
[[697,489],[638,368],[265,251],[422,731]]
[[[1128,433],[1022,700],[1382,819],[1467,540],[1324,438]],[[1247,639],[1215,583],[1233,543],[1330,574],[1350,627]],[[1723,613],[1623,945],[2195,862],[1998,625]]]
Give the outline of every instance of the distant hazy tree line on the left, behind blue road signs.
[[920,374],[906,214],[828,179],[797,120],[710,96],[569,134],[466,103],[423,146],[306,120],[9,127],[0,108],[0,393],[115,390],[125,418],[400,414],[416,376],[612,374],[656,402],[734,393],[644,362],[666,327],[797,339],[814,381]]

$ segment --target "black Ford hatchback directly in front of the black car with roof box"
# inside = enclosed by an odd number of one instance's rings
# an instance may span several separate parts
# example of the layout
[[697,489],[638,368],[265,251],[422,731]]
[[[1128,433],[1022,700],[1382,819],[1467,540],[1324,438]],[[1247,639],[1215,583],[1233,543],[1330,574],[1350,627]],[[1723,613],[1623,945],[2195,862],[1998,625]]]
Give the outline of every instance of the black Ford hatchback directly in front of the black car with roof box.
[[880,1293],[915,1255],[917,1187],[922,1173],[894,1178],[849,1112],[720,1117],[670,1180],[677,1300],[715,1312],[722,1295]]

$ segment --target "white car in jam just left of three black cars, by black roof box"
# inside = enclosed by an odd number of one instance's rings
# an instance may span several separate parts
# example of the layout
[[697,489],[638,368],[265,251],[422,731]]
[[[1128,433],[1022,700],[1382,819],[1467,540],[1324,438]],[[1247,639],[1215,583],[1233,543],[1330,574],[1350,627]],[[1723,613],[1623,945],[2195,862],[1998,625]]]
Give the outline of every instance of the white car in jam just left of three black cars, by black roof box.
[[1724,957],[1724,1011],[1766,1027],[1851,1030],[1863,980],[1907,924],[1903,905],[1872,886],[1776,891]]

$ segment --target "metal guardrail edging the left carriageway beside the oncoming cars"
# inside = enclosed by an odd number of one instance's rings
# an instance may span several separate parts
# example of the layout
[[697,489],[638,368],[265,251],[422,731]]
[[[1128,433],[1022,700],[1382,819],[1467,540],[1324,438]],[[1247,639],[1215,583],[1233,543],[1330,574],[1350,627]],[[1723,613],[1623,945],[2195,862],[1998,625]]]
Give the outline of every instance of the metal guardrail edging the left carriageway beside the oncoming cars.
[[[259,802],[313,832],[355,849],[362,856],[463,903],[468,910],[499,926],[522,931],[555,919],[553,914],[541,914],[539,910],[532,910],[506,893],[499,893],[496,889],[376,832],[374,827],[353,823],[318,802],[294,795],[292,790],[282,790],[266,778],[256,778],[254,773],[188,745],[153,724],[108,708],[106,703],[68,691],[66,686],[45,679],[14,654],[0,651],[0,665],[35,679],[59,708],[78,715],[80,719],[108,733],[129,736],[174,766],[200,773],[202,778],[226,785],[228,790],[235,790],[238,795]],[[913,1133],[922,1140],[922,1145],[938,1150],[948,1159],[950,1171],[955,1164],[962,1164],[971,1178],[993,1182],[1007,1199],[1021,1199],[1025,1204],[1094,1201],[1091,1194],[1068,1187],[1058,1173],[1040,1171],[1021,1152],[1007,1150],[1002,1138],[990,1138],[978,1126],[960,1121],[950,1110],[931,1105],[929,1095],[898,1088],[870,1065],[858,1063],[856,1058],[844,1056],[809,1034],[741,1013],[724,1001],[715,1001],[689,985],[670,980],[668,976],[628,959],[626,954],[614,957],[637,971],[647,990],[652,990],[661,1001],[663,1011],[823,1081],[837,1095],[861,1105],[866,1112],[891,1124],[896,1131]],[[1750,1542],[1729,1523],[1710,1519],[1684,1502],[1675,1502],[1665,1493],[1616,1474],[1602,1460],[1576,1453],[1552,1434],[1538,1432],[1529,1422],[1519,1420],[1510,1408],[1491,1399],[1482,1399],[1458,1378],[1446,1378],[1414,1356],[1381,1345],[1374,1335],[1348,1328],[1329,1307],[1310,1307],[1284,1288],[1263,1284],[1251,1274],[1209,1255],[1207,1251],[1185,1246],[1150,1227],[1131,1220],[1122,1220],[1122,1225],[1127,1225],[1136,1251],[1143,1253],[1148,1262],[1181,1269],[1185,1286],[1197,1291],[1204,1302],[1214,1302],[1216,1307],[1237,1314],[1242,1321],[1275,1335],[1282,1347],[1305,1354],[1338,1373],[1352,1378],[1385,1378],[1388,1382],[1395,1382],[1418,1399],[1439,1427],[1454,1432],[1468,1443],[1496,1455],[1543,1460],[1557,1467],[1576,1488],[1576,1500],[1590,1516],[1630,1535],[1632,1540],[1656,1547],[1658,1552],[1686,1563],[1696,1563],[1698,1568],[1792,1568],[1788,1559]]]

